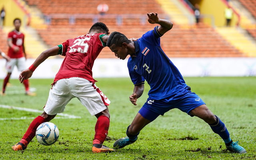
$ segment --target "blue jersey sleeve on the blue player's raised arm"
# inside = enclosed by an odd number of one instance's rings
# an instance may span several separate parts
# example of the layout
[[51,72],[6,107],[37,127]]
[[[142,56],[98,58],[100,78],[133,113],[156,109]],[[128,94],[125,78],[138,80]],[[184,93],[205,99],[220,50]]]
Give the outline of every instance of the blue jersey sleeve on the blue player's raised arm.
[[154,46],[160,46],[160,37],[162,37],[162,35],[158,32],[158,26],[156,26],[154,30],[150,30],[142,36],[146,42]]

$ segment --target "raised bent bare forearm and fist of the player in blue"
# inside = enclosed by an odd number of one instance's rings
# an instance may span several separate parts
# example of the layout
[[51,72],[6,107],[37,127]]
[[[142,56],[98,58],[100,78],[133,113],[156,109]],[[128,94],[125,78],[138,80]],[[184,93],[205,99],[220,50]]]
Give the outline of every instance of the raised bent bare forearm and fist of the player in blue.
[[160,27],[158,27],[158,32],[162,35],[164,35],[168,30],[172,29],[172,22],[165,19],[158,18],[157,13],[147,13],[148,15],[148,22],[150,24],[160,24]]

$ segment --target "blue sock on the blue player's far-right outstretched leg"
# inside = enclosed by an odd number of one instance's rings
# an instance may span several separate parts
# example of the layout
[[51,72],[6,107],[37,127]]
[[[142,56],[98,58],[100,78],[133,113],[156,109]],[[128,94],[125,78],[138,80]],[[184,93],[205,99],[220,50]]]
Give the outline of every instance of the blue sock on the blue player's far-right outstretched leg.
[[220,120],[220,118],[218,118],[218,116],[216,116],[216,122],[209,125],[212,128],[212,131],[218,134],[226,144],[231,142],[228,129],[226,128],[225,124]]

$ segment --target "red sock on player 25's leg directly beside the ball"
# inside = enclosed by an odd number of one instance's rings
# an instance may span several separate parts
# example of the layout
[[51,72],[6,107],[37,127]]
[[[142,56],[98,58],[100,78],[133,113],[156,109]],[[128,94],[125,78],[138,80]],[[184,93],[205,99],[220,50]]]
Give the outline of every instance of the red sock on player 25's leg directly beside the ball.
[[36,136],[36,128],[44,122],[46,122],[44,117],[36,117],[29,125],[28,130],[20,140],[20,143],[23,143],[25,146],[27,146],[29,142],[34,138],[34,136]]

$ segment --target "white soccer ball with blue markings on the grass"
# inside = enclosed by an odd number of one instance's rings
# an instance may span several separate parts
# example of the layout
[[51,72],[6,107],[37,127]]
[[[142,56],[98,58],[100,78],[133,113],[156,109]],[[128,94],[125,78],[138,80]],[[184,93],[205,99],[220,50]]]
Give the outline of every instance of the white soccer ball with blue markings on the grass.
[[45,146],[54,144],[59,138],[59,129],[52,122],[44,122],[36,129],[36,139]]

